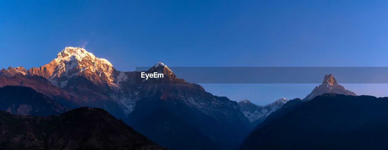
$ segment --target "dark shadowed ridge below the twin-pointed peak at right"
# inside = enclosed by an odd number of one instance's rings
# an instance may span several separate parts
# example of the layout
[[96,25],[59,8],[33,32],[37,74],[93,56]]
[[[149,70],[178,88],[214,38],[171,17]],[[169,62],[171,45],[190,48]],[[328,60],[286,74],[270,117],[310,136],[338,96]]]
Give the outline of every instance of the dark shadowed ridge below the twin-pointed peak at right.
[[388,149],[388,97],[323,94],[253,131],[240,150]]

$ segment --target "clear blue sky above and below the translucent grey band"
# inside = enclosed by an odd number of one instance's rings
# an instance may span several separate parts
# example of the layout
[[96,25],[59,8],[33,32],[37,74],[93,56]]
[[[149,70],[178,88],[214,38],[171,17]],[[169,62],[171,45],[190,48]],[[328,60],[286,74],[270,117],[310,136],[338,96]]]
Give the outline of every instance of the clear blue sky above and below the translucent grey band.
[[[159,61],[167,66],[387,66],[387,7],[388,1],[355,0],[1,1],[0,68],[42,66],[66,46],[85,47],[120,71]],[[382,85],[345,88],[388,96],[376,86]],[[267,104],[280,97],[304,98],[315,85],[203,87],[235,101]]]

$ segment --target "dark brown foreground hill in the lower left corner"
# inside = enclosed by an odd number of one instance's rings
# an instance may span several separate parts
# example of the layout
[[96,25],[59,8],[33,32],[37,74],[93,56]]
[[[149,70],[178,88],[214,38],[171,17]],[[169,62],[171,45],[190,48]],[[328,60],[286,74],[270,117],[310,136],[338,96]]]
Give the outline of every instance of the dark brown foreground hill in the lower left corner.
[[0,111],[2,150],[167,150],[100,108],[59,116],[17,116]]

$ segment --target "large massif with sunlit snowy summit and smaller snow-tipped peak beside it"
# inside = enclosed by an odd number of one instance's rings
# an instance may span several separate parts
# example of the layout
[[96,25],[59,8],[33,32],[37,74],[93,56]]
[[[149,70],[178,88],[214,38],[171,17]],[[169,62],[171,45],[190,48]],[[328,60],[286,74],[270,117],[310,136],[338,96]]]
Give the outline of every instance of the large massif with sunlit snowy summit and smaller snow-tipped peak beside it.
[[233,149],[251,130],[237,102],[177,78],[163,63],[145,72],[165,77],[144,80],[140,72],[117,71],[85,49],[67,47],[39,68],[3,68],[0,83],[31,87],[71,108],[103,108],[170,148]]

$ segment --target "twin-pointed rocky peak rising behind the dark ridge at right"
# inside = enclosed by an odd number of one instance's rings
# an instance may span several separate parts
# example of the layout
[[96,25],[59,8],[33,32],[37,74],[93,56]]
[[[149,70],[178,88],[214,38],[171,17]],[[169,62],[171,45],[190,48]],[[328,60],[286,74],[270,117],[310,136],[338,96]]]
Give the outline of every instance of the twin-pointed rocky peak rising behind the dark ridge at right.
[[354,92],[346,90],[343,86],[339,85],[333,75],[329,74],[325,75],[323,83],[321,85],[315,87],[314,90],[302,100],[307,101],[310,99],[314,99],[315,96],[333,92],[338,94],[357,96]]

